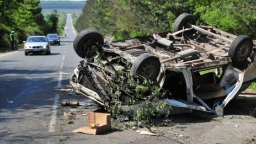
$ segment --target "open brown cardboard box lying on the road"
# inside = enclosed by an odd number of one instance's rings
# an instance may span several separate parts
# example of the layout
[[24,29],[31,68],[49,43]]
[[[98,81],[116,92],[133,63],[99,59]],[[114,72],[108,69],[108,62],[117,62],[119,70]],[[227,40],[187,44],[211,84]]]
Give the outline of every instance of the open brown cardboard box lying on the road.
[[[91,127],[92,124],[100,124],[99,127]],[[111,129],[110,114],[88,113],[88,126],[80,127],[73,132],[82,132],[84,134],[98,135]]]

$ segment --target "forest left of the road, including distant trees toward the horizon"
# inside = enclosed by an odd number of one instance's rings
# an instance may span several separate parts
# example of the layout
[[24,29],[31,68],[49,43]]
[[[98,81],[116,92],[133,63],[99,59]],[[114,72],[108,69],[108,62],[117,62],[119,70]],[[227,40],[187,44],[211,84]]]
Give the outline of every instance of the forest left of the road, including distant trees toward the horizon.
[[40,0],[0,0],[0,47],[9,47],[12,30],[21,44],[31,35],[61,34],[65,24],[66,13],[59,14],[56,9],[51,9],[42,14]]

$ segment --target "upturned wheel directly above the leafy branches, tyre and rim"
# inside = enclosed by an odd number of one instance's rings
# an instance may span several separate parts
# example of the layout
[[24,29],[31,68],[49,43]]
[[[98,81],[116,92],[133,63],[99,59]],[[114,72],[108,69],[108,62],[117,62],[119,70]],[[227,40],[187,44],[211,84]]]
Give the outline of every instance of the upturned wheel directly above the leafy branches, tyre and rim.
[[131,72],[155,81],[160,72],[160,61],[156,56],[145,53],[137,57],[132,64]]

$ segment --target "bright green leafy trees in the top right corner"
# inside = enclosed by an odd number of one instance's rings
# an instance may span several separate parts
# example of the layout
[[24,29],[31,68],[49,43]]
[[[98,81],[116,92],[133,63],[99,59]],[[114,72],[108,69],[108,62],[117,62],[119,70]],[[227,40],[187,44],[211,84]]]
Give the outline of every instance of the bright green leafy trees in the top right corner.
[[252,0],[189,0],[199,20],[236,35],[256,36],[256,3]]

